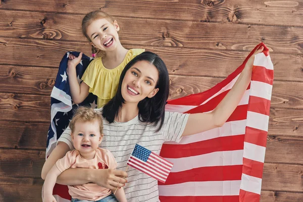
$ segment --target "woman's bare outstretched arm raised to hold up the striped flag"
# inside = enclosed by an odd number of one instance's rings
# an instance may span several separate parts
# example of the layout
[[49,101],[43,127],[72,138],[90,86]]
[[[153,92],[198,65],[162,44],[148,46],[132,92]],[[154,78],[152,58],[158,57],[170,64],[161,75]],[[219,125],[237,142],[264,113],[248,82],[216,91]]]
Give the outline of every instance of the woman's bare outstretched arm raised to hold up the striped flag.
[[190,114],[182,136],[204,132],[216,127],[221,127],[230,117],[240,102],[251,79],[252,65],[255,55],[262,53],[263,46],[247,60],[239,78],[221,100],[219,105],[210,113]]

